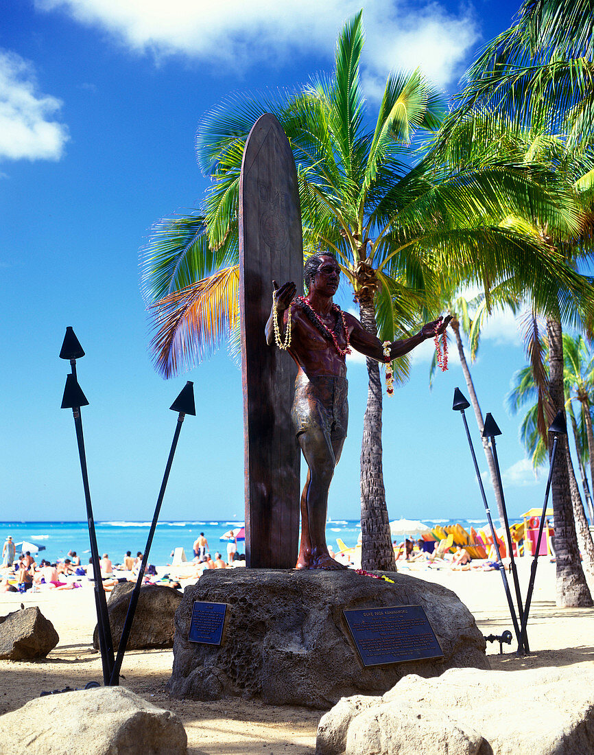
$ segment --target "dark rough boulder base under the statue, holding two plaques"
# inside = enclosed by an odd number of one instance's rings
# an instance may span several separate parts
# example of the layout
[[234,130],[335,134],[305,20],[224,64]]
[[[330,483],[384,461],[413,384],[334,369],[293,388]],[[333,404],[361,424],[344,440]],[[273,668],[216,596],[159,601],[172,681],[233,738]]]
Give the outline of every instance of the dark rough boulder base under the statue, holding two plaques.
[[[403,676],[451,667],[488,669],[485,640],[458,596],[439,584],[390,573],[395,584],[340,572],[221,569],[186,587],[175,614],[175,698],[259,697],[328,709],[342,697],[383,694]],[[228,603],[220,646],[188,642],[195,600]],[[365,667],[343,609],[420,605],[444,658]]]

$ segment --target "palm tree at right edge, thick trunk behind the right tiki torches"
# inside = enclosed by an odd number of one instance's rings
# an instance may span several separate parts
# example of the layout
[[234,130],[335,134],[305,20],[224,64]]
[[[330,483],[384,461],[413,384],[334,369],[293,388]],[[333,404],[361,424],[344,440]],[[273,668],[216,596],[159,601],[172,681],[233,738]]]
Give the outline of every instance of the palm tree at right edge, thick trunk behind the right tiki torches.
[[[472,69],[474,75],[479,77],[476,66]],[[500,69],[497,69],[500,72]],[[485,74],[486,76],[487,74]],[[503,77],[505,78],[505,77]],[[474,79],[473,79],[474,82]],[[476,82],[475,82],[476,83]],[[491,79],[494,88],[499,85]],[[477,84],[477,87],[479,84]],[[514,85],[509,79],[497,88],[497,97],[503,97],[505,86]],[[525,165],[536,160],[549,169],[556,171],[559,180],[565,183],[566,190],[574,193],[576,201],[581,200],[582,217],[587,217],[589,193],[591,192],[592,164],[589,155],[589,146],[585,142],[576,145],[563,131],[555,131],[553,127],[567,125],[559,119],[556,109],[549,106],[543,107],[543,100],[539,97],[526,100],[531,109],[516,113],[509,103],[503,98],[497,100],[493,95],[490,106],[485,106],[484,100],[488,99],[487,90],[483,92],[485,97],[479,101],[482,103],[475,110],[469,108],[469,97],[461,107],[460,112],[454,113],[450,121],[445,125],[444,134],[448,134],[449,142],[445,141],[442,134],[436,144],[435,151],[445,154],[448,159],[472,162],[476,159],[476,153],[482,151],[491,155],[491,160],[503,159],[506,162],[516,162],[519,170]],[[497,100],[498,107],[493,106]],[[477,100],[474,100],[476,106]],[[528,112],[528,116],[526,116]],[[464,134],[465,138],[460,138]],[[472,137],[472,138],[471,138]],[[466,144],[471,146],[466,147]],[[461,146],[461,149],[460,149]],[[587,188],[586,188],[587,187]],[[586,201],[584,201],[586,200]],[[565,236],[559,228],[551,223],[543,222],[537,212],[531,211],[523,217],[509,216],[509,223],[528,223],[534,229],[534,233],[540,236],[543,242],[547,242],[550,248],[556,248],[565,254],[568,267],[574,267],[579,257],[589,254],[590,233],[589,223],[583,223],[578,233]],[[563,386],[563,348],[562,348],[562,321],[572,325],[579,325],[580,317],[584,310],[591,307],[592,297],[586,296],[580,305],[570,313],[569,317],[562,315],[560,310],[541,307],[531,300],[530,295],[525,295],[525,300],[533,312],[546,315],[546,329],[549,345],[549,373],[545,381],[543,377],[543,365],[540,363],[541,352],[538,349],[538,340],[528,340],[528,344],[534,347],[530,352],[531,365],[537,385],[540,387],[541,401],[538,402],[538,429],[546,438],[546,427],[551,423],[557,411],[564,409],[564,386]],[[533,318],[535,322],[535,318]],[[559,351],[556,351],[559,349]],[[552,448],[552,439],[549,439]],[[552,478],[552,501],[556,518],[556,544],[557,544],[557,600],[560,606],[590,605],[591,597],[583,577],[580,565],[579,551],[577,547],[577,535],[575,532],[574,498],[572,492],[574,485],[571,480],[573,469],[568,455],[567,439],[559,440],[559,461],[555,466]],[[568,463],[569,462],[569,463]],[[577,487],[577,486],[576,486]],[[579,517],[578,517],[579,518]]]

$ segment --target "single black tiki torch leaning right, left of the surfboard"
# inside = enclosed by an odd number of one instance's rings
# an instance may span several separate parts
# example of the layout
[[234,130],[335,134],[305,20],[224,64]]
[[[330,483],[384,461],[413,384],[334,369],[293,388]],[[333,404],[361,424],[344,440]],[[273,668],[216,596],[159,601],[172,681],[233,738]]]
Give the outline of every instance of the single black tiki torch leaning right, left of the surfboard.
[[140,598],[140,588],[142,587],[142,584],[143,584],[144,570],[146,569],[146,563],[149,559],[149,550],[152,544],[152,538],[155,535],[155,529],[157,527],[157,521],[159,519],[159,512],[161,511],[161,504],[163,503],[163,498],[165,496],[165,488],[167,487],[167,481],[169,479],[169,473],[171,471],[171,464],[174,461],[175,449],[177,447],[177,440],[180,437],[180,430],[183,423],[183,419],[185,418],[186,414],[192,414],[193,417],[195,417],[195,414],[196,414],[195,405],[194,405],[194,389],[192,388],[192,385],[193,384],[191,381],[187,381],[180,395],[177,396],[177,399],[175,399],[175,401],[173,402],[173,404],[171,404],[171,407],[170,407],[172,411],[179,412],[179,414],[177,415],[177,425],[175,427],[174,439],[171,442],[171,450],[169,451],[169,458],[165,466],[165,473],[163,475],[163,482],[161,483],[161,490],[159,491],[159,498],[157,498],[157,504],[155,506],[155,514],[152,517],[152,523],[149,530],[149,537],[146,538],[146,547],[144,549],[142,563],[140,564],[138,578],[137,578],[136,584],[134,585],[134,590],[130,598],[130,604],[128,606],[126,620],[124,622],[124,627],[122,629],[122,637],[120,638],[120,641],[118,644],[118,654],[115,658],[115,664],[113,664],[111,679],[109,680],[109,684],[111,686],[116,686],[119,683],[119,672],[120,672],[120,669],[122,668],[122,661],[124,660],[124,653],[126,652],[126,645],[128,644],[128,638],[132,630],[132,622],[134,621],[134,612],[136,612],[138,599]]

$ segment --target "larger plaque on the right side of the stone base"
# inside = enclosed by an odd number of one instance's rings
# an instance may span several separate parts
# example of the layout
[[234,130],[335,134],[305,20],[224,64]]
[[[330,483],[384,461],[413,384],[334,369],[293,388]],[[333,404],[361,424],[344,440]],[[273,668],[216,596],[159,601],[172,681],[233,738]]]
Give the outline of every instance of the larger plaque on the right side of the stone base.
[[364,666],[443,658],[422,606],[343,611]]

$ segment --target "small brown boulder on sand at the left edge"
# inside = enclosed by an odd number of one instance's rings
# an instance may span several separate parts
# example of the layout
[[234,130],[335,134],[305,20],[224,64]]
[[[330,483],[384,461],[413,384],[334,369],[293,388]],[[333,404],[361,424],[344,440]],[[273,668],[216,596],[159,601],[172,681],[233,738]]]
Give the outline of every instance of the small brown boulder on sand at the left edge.
[[54,624],[37,606],[0,616],[0,658],[3,661],[45,658],[59,642]]

